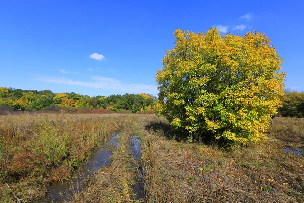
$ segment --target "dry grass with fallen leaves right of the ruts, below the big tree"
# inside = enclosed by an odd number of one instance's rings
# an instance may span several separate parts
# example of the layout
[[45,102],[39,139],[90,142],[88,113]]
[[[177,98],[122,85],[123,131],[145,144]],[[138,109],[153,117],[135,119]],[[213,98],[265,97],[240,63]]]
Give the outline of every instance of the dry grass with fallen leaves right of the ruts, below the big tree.
[[146,201],[304,202],[303,158],[282,151],[303,146],[303,125],[303,119],[276,118],[267,142],[232,151],[146,132]]

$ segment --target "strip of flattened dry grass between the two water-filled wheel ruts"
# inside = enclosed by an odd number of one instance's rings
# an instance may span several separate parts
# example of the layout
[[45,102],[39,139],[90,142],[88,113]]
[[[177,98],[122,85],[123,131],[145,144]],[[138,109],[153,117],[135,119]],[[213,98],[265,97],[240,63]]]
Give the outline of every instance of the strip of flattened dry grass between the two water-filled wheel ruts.
[[87,182],[87,188],[73,197],[73,202],[140,202],[132,186],[136,184],[132,167],[131,136],[138,132],[152,116],[129,116],[119,134],[118,147],[111,157],[111,164],[102,168]]

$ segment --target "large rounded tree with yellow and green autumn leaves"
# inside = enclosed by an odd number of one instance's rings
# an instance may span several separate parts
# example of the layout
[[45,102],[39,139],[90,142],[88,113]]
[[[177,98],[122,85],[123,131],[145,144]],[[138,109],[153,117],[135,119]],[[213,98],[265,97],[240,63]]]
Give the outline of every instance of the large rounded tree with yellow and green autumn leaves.
[[159,113],[189,138],[246,144],[265,138],[281,106],[283,59],[267,36],[176,30],[156,74]]

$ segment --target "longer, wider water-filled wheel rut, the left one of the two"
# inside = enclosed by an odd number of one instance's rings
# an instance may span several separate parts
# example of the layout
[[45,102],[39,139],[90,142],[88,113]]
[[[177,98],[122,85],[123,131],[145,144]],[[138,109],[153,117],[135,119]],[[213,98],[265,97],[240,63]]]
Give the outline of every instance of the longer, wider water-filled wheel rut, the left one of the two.
[[[110,146],[117,146],[118,134],[112,136],[109,141],[101,146],[94,154],[92,154],[89,161],[80,167],[77,174],[73,175],[73,179],[64,183],[54,183],[48,188],[48,194],[44,199],[38,199],[32,202],[62,202],[71,201],[71,196],[85,189],[82,184],[88,176],[93,175],[100,168],[110,164],[110,157],[112,152],[109,151]],[[76,178],[77,177],[77,178]]]

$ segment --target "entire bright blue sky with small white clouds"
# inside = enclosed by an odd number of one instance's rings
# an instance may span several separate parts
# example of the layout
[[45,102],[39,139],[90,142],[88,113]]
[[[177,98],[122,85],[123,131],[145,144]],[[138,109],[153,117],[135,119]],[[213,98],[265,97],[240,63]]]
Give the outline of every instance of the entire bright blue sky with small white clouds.
[[0,0],[0,87],[89,96],[157,95],[155,72],[176,29],[265,33],[286,88],[304,91],[302,1]]

